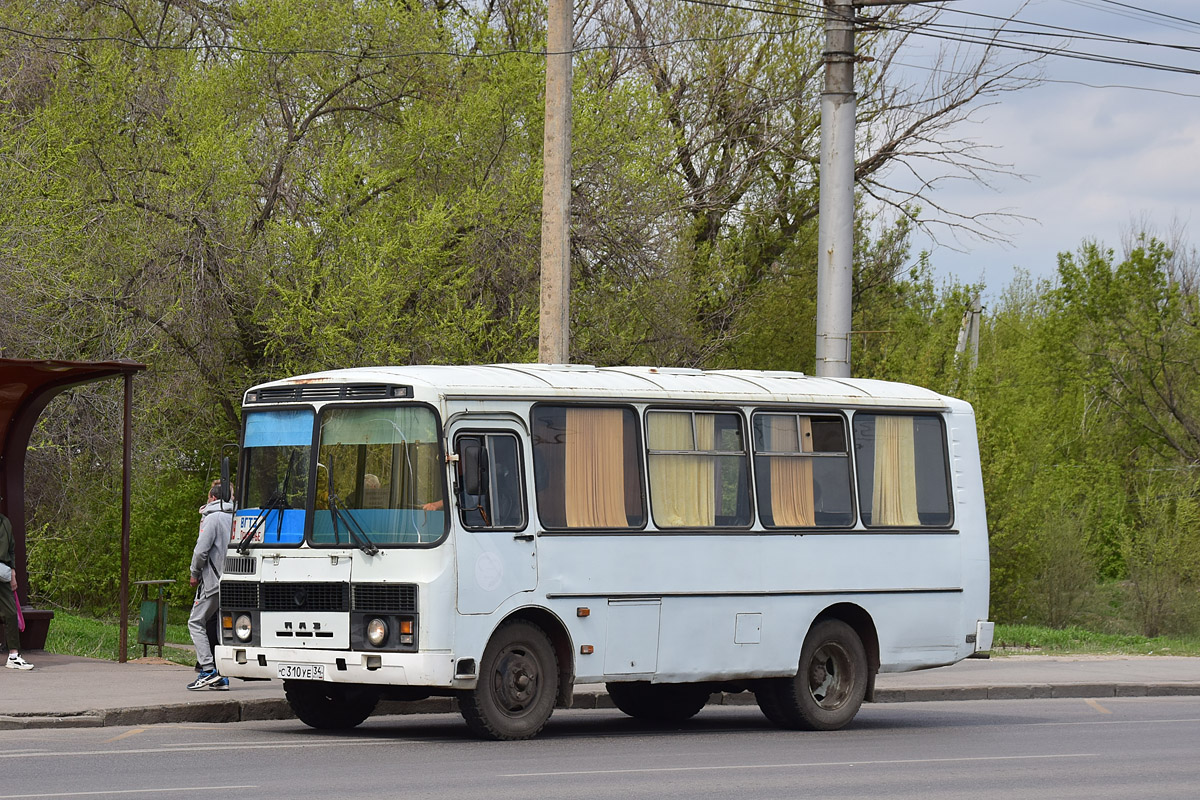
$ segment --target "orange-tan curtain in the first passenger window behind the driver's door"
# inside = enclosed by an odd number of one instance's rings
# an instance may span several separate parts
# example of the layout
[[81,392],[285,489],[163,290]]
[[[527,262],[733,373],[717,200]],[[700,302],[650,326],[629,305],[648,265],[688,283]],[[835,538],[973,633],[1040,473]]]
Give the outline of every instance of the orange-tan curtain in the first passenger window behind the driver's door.
[[566,410],[568,528],[628,528],[620,409]]

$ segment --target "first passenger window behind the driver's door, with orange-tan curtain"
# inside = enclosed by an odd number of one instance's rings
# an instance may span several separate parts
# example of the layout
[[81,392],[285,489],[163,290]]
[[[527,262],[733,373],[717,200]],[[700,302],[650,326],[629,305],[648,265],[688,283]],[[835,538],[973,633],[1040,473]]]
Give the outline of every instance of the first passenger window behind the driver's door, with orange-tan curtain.
[[631,409],[538,405],[533,464],[538,515],[548,529],[646,524],[646,493]]

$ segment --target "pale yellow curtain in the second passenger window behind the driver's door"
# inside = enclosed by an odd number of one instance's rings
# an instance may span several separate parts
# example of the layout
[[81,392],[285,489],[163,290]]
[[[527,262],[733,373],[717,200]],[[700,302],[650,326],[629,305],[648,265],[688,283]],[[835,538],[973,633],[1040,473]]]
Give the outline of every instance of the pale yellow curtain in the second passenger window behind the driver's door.
[[[716,446],[716,417],[653,411],[647,419],[650,450],[712,451]],[[660,528],[712,528],[716,523],[716,458],[708,455],[652,455],[650,503]]]

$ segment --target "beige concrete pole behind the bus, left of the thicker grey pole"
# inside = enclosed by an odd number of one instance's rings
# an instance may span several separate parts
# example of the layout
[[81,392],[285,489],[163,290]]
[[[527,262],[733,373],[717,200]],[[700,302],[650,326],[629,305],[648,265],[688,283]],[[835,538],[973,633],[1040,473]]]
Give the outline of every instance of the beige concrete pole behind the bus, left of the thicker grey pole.
[[542,363],[568,363],[571,353],[571,1],[550,0],[546,19],[538,320],[538,360]]

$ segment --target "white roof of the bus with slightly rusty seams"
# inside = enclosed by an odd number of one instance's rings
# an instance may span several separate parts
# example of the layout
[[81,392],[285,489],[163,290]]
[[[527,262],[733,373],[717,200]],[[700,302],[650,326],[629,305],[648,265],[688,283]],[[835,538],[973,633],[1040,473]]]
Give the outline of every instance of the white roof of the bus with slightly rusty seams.
[[[503,396],[535,399],[721,399],[731,403],[912,405],[948,408],[950,397],[910,384],[864,378],[816,378],[799,372],[593,367],[587,365],[493,363],[331,369],[260,384],[247,391],[265,402],[272,389],[292,386],[404,385],[413,398]],[[262,390],[268,390],[263,392]],[[313,395],[316,399],[320,393]],[[306,401],[298,395],[292,402]],[[286,401],[284,401],[286,402]]]

